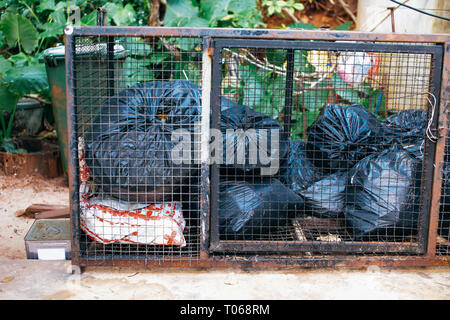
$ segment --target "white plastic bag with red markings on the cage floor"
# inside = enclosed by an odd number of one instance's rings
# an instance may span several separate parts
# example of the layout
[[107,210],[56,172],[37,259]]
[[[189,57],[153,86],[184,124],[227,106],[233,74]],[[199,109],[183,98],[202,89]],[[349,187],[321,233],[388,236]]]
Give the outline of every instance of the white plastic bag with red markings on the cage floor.
[[80,225],[100,243],[141,243],[184,247],[186,222],[178,202],[130,204],[113,198],[97,199],[84,159],[84,140],[78,141],[80,165]]

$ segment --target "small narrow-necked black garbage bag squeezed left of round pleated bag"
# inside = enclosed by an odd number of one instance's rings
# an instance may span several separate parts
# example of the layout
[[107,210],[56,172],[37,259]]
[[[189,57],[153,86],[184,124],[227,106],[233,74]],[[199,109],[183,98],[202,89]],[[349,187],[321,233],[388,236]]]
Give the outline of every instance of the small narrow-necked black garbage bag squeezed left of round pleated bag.
[[306,157],[306,144],[289,139],[289,159],[280,176],[280,181],[296,193],[322,177],[320,170]]

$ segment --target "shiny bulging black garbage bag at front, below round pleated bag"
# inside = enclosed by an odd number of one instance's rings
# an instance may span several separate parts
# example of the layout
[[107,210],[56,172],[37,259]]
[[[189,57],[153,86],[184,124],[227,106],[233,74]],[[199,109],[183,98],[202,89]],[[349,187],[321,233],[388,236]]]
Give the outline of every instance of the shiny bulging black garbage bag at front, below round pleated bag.
[[349,171],[344,214],[355,239],[417,231],[418,163],[401,146],[394,146],[366,157]]

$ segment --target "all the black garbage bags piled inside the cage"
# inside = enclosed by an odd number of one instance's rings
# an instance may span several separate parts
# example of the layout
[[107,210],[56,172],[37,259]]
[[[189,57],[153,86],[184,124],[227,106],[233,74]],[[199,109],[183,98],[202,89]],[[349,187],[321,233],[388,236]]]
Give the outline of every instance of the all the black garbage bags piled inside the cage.
[[[200,106],[200,87],[181,80],[138,83],[109,99],[86,136],[96,192],[198,211],[198,165],[173,161],[172,133],[194,133]],[[307,140],[293,141],[277,120],[222,98],[221,238],[260,239],[305,215],[345,221],[355,239],[413,233],[427,116],[405,110],[378,120],[361,105],[328,105]]]

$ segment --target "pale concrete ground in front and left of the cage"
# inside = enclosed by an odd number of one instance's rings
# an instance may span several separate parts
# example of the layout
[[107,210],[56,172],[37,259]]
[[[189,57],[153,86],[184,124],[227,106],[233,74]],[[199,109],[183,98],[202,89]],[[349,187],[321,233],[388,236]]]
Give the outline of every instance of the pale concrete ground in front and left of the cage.
[[68,204],[63,179],[0,176],[0,300],[3,299],[446,299],[450,269],[362,271],[141,271],[86,269],[25,259],[33,203]]

